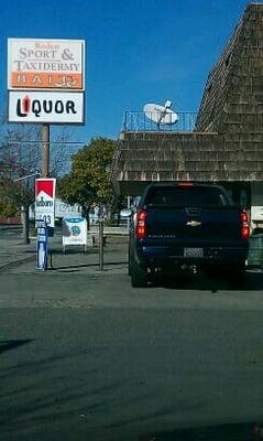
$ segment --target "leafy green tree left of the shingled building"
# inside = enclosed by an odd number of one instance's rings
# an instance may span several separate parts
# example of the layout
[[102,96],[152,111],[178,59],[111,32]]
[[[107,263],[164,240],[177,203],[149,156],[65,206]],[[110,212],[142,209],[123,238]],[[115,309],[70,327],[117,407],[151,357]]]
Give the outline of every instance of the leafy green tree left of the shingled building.
[[92,203],[112,207],[114,190],[111,164],[117,141],[95,138],[72,157],[72,170],[58,181],[58,194],[69,204],[79,204],[88,220]]

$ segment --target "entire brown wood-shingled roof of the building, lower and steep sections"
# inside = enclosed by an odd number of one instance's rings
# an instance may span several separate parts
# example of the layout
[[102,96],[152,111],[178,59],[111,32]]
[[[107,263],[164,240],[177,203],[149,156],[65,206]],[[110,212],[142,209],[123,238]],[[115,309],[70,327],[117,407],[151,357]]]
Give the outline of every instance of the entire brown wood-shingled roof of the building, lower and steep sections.
[[[123,132],[122,193],[151,181],[263,181],[263,4],[249,4],[208,76],[194,132]],[[141,185],[140,185],[141,184]]]

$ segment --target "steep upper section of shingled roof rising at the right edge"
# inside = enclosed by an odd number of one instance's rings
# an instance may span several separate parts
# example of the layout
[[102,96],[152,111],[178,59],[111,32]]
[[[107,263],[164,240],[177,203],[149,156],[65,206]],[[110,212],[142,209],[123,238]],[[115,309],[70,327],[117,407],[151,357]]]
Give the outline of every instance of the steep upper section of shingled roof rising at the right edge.
[[263,4],[249,4],[210,72],[197,130],[263,131]]

